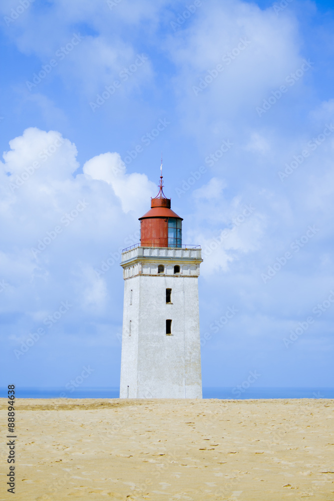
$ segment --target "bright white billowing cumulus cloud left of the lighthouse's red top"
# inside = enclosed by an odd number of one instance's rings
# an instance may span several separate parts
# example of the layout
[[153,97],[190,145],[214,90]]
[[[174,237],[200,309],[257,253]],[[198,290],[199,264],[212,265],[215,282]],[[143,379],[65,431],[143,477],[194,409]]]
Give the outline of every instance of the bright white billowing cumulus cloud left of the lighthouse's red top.
[[83,316],[111,315],[112,322],[116,311],[106,308],[107,300],[121,302],[120,291],[110,289],[118,280],[122,290],[119,254],[108,273],[96,270],[138,229],[156,186],[146,175],[127,174],[118,153],[94,157],[78,173],[77,148],[57,131],[26,129],[3,157],[1,310],[11,317],[9,334],[27,338],[62,301],[72,304],[59,323],[65,333],[70,324],[76,332]]

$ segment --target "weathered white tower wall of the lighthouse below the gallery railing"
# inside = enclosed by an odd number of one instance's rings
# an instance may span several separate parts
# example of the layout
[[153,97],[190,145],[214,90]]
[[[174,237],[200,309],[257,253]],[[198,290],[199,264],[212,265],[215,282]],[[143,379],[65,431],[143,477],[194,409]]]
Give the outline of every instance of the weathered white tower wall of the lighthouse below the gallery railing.
[[[199,263],[182,263],[182,257],[172,263],[149,260],[123,265],[136,268],[138,275],[125,279],[120,397],[202,398]],[[157,274],[158,264],[166,274]],[[172,275],[174,264],[185,273]],[[172,304],[166,304],[167,288],[172,289]],[[166,319],[172,320],[171,336],[166,335]]]

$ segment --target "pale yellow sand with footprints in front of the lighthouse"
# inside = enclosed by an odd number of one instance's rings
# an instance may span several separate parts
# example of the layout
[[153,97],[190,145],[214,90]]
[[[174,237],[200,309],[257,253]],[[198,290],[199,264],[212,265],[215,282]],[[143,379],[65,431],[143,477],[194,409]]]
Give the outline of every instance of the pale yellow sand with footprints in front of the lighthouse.
[[333,410],[322,399],[19,399],[13,499],[333,501]]

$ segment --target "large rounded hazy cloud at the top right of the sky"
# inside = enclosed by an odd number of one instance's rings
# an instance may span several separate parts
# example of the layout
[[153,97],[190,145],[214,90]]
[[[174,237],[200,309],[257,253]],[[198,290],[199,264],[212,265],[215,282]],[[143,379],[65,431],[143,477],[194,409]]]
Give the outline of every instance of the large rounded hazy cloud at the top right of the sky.
[[[242,40],[245,47],[240,50]],[[256,106],[286,83],[304,57],[293,17],[279,17],[272,9],[263,11],[239,0],[209,2],[187,29],[167,39],[165,47],[177,66],[172,82],[181,123],[205,149],[208,144],[213,148],[217,138],[240,138],[245,129],[248,134]],[[223,67],[220,73],[218,64]],[[206,76],[212,82],[196,96],[194,87]],[[302,85],[301,79],[299,92]]]

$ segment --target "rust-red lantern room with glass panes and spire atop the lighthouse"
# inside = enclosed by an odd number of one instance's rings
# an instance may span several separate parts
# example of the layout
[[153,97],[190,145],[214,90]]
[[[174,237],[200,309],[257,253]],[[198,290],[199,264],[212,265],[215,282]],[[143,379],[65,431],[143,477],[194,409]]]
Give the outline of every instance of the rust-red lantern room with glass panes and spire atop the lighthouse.
[[182,217],[170,208],[170,198],[163,192],[162,175],[159,193],[151,198],[151,210],[140,220],[142,247],[182,247]]

